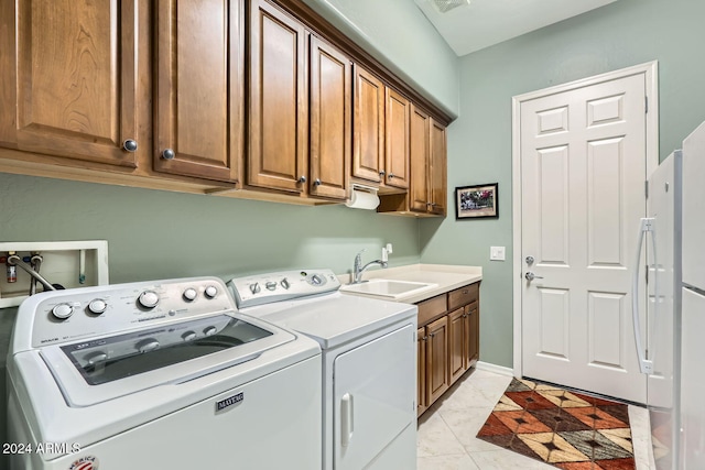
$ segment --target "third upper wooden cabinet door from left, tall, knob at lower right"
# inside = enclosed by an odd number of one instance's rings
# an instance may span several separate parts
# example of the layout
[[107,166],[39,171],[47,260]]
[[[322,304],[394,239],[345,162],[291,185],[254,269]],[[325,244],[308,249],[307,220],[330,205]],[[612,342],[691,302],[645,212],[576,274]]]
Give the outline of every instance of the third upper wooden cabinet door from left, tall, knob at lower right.
[[248,184],[302,193],[308,174],[306,32],[265,0],[250,0],[248,28]]

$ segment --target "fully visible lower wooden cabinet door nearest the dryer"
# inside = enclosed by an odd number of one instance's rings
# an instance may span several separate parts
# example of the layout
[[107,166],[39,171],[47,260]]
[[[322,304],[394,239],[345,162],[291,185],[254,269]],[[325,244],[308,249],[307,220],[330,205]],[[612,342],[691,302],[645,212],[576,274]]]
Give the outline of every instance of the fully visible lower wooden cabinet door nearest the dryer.
[[426,326],[426,396],[433,403],[448,390],[448,316]]

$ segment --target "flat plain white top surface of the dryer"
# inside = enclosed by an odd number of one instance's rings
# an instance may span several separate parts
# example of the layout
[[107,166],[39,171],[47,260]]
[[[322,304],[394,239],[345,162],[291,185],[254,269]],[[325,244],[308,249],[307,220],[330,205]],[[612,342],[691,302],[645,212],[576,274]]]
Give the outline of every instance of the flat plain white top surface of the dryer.
[[413,319],[419,308],[415,305],[335,293],[242,311],[300,331],[318,341],[323,349],[330,349],[389,325]]

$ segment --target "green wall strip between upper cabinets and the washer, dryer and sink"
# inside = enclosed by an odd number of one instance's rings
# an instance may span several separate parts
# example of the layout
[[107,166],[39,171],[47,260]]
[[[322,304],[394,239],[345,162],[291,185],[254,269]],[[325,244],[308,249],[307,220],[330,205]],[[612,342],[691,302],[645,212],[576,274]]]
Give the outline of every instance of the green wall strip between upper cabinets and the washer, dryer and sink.
[[0,174],[0,240],[108,240],[113,283],[420,260],[414,219]]

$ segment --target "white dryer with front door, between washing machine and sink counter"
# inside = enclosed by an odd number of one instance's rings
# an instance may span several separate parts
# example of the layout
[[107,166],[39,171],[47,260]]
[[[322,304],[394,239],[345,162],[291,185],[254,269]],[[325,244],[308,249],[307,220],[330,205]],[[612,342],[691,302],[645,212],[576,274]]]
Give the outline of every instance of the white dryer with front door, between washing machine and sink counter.
[[338,293],[329,270],[238,277],[239,311],[323,349],[323,468],[416,468],[417,307]]

